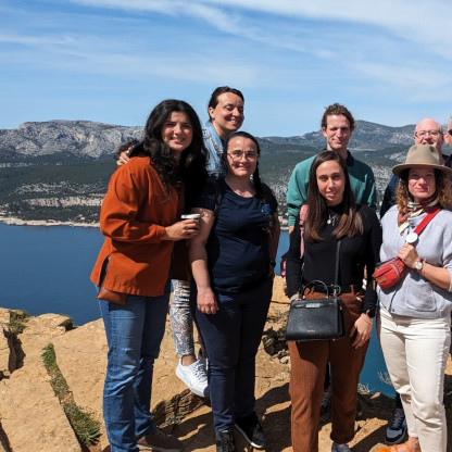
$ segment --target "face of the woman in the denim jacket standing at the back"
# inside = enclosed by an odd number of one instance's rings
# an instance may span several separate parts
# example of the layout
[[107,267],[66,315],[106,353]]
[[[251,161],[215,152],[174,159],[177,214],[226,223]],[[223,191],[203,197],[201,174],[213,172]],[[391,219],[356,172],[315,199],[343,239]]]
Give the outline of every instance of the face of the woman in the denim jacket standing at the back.
[[225,140],[243,124],[243,101],[234,92],[223,92],[216,100],[215,108],[209,108],[209,115],[218,137]]

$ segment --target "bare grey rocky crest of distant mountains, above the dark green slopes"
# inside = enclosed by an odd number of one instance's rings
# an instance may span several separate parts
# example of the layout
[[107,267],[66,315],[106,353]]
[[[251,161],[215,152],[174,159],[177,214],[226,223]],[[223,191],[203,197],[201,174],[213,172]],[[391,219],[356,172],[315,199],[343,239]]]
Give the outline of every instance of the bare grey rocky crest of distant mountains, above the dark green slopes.
[[[46,155],[71,152],[79,158],[98,159],[112,154],[116,147],[133,138],[140,139],[143,127],[118,126],[90,121],[48,121],[24,123],[16,129],[0,129],[0,156]],[[410,146],[414,125],[390,127],[356,121],[350,141],[353,150],[377,150],[389,146]],[[294,137],[262,137],[264,143],[322,148],[322,130]],[[266,146],[264,146],[266,148]]]

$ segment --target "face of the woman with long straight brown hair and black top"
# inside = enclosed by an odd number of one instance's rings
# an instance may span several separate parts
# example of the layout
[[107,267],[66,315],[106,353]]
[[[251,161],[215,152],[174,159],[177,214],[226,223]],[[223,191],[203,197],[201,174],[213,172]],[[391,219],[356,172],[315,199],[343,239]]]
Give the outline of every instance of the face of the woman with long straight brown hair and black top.
[[338,205],[343,200],[346,176],[338,162],[328,160],[318,165],[315,175],[322,197],[329,206]]

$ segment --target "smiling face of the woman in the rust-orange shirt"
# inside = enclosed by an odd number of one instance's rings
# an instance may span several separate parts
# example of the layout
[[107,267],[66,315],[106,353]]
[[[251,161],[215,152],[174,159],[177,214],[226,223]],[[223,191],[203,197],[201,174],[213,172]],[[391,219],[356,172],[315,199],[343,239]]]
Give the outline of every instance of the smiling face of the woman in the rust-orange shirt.
[[176,159],[186,150],[193,139],[193,127],[186,113],[172,112],[162,127],[162,140],[170,146]]

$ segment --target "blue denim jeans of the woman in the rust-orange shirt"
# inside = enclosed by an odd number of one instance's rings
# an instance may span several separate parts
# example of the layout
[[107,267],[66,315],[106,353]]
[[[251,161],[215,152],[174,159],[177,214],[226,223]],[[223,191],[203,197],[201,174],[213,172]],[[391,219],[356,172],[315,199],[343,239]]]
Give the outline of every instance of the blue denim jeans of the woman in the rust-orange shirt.
[[103,418],[111,452],[137,452],[153,434],[150,404],[154,360],[165,332],[171,280],[161,297],[128,296],[120,305],[99,300],[109,344]]

